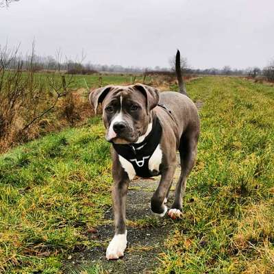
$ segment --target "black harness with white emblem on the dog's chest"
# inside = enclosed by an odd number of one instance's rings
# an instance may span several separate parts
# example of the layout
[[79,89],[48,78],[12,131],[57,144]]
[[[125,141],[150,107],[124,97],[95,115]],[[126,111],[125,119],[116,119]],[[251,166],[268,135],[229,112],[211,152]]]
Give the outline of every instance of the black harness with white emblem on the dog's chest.
[[[161,105],[162,106],[162,105]],[[157,116],[153,119],[152,129],[149,135],[138,144],[119,145],[112,143],[116,153],[131,162],[136,175],[140,177],[152,177],[158,175],[155,171],[149,171],[149,159],[160,144],[162,137],[162,125]]]

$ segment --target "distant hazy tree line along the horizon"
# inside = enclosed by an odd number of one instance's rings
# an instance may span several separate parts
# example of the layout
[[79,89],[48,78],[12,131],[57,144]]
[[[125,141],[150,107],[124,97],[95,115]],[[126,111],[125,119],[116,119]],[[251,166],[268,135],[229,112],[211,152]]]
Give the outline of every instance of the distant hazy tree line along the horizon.
[[[5,49],[5,50],[3,50]],[[0,45],[1,51],[1,45]],[[2,47],[2,59],[5,58],[3,51],[7,51],[7,47]],[[18,53],[18,49],[16,50]],[[25,56],[14,54],[9,55],[8,69],[17,69],[20,64],[21,69],[28,70],[29,64],[32,63],[32,70],[34,71],[63,71],[67,74],[82,74],[88,75],[93,73],[142,73],[149,74],[171,74],[175,71],[174,58],[170,60],[170,67],[138,67],[138,66],[121,66],[115,64],[92,64],[92,62],[84,63],[84,55],[80,60],[68,60],[62,57],[62,53],[57,52],[56,56],[40,56],[32,52],[31,55]],[[269,81],[274,81],[274,60],[269,62],[264,69],[260,69],[258,66],[249,67],[247,69],[232,69],[230,66],[223,66],[222,69],[209,68],[209,69],[193,69],[188,65],[186,58],[182,58],[182,72],[184,74],[196,74],[196,75],[238,75],[258,77],[264,76]]]

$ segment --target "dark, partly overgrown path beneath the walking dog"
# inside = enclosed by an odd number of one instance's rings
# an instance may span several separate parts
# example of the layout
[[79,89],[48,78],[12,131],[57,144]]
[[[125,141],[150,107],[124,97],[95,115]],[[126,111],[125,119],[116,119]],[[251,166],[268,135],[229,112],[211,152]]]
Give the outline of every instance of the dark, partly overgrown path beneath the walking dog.
[[[200,109],[202,102],[197,101]],[[177,169],[173,178],[173,187],[167,203],[171,207],[174,186],[181,171],[179,154],[177,154]],[[64,262],[64,273],[75,273],[82,269],[99,264],[104,273],[151,273],[160,264],[158,255],[164,251],[164,239],[172,232],[174,221],[169,216],[159,219],[150,211],[150,199],[158,186],[160,176],[153,179],[135,179],[129,184],[127,193],[127,249],[125,257],[120,260],[106,260],[105,250],[108,242],[114,236],[112,208],[105,212],[105,225],[97,227],[92,235],[98,247],[75,253],[70,260]],[[73,269],[73,270],[72,270]],[[77,272],[78,273],[78,272]]]

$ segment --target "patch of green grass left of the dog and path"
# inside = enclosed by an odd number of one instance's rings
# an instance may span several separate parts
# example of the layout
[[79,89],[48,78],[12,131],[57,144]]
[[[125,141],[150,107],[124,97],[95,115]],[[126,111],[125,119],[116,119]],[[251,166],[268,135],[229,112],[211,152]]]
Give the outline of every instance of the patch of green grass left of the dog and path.
[[96,118],[1,156],[0,270],[58,273],[66,253],[96,245],[87,231],[111,204],[103,136]]

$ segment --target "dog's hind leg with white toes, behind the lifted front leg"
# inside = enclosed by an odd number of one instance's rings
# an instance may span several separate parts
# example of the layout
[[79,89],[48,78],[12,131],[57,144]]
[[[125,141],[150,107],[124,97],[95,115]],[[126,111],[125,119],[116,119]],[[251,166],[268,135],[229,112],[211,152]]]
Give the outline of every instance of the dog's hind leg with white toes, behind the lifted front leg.
[[179,155],[181,160],[181,174],[175,188],[175,198],[169,210],[169,216],[177,219],[182,216],[182,196],[186,191],[186,179],[195,164],[197,155],[198,137],[195,132],[183,134],[179,144]]

